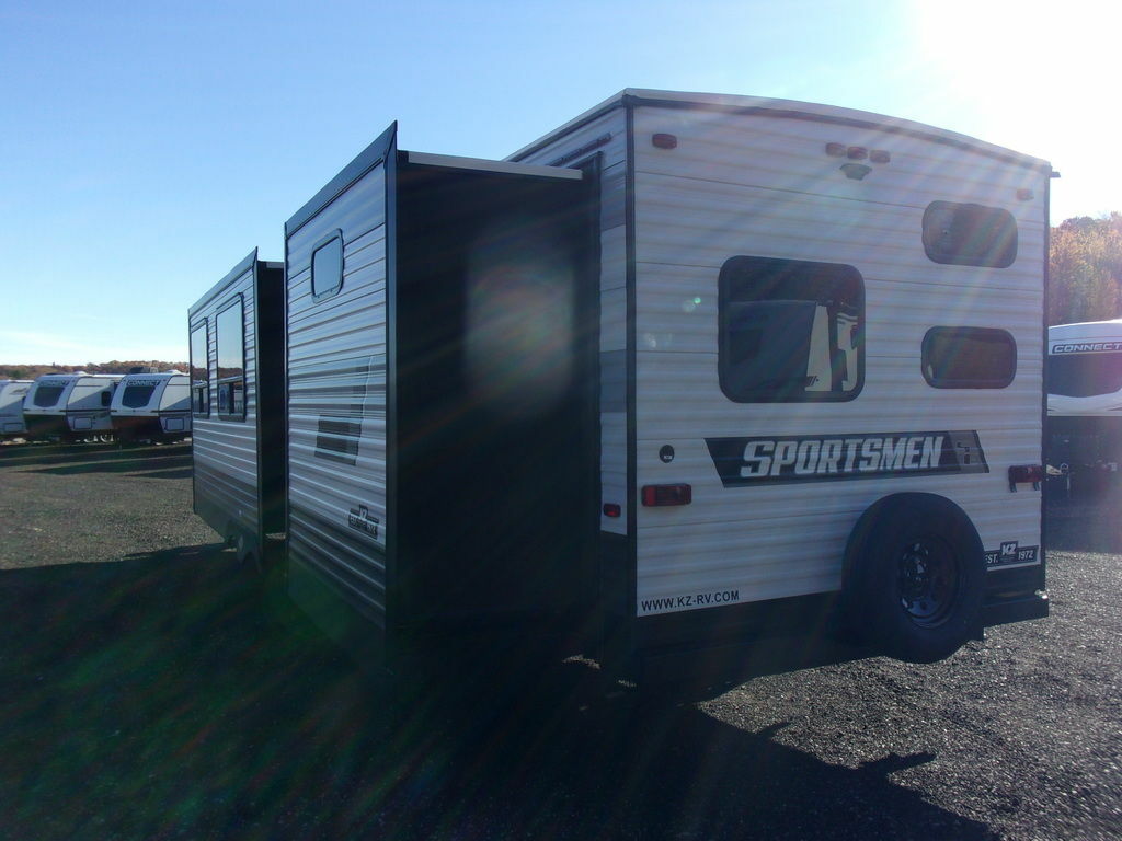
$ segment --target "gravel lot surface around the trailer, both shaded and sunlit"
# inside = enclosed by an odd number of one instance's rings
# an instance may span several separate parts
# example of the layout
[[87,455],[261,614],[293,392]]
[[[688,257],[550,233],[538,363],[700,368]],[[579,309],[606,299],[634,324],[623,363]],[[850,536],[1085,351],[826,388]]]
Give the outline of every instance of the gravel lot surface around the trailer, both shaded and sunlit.
[[191,514],[185,446],[0,449],[0,838],[1122,837],[1114,506],[1049,512],[1052,616],[705,704],[393,701]]

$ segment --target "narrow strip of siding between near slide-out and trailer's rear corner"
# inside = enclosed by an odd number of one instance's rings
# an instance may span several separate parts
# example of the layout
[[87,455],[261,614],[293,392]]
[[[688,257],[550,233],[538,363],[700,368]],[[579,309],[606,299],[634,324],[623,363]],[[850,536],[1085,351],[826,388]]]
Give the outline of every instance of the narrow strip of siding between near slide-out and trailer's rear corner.
[[[610,139],[596,151],[604,155],[600,172],[600,368],[609,376],[600,390],[600,488],[601,503],[622,507],[623,517],[600,515],[604,532],[627,534],[627,380],[624,353],[627,348],[627,237],[626,237],[626,115],[622,109],[564,135],[549,146],[521,159],[525,164],[549,164],[598,138]],[[580,158],[567,161],[574,166]]]

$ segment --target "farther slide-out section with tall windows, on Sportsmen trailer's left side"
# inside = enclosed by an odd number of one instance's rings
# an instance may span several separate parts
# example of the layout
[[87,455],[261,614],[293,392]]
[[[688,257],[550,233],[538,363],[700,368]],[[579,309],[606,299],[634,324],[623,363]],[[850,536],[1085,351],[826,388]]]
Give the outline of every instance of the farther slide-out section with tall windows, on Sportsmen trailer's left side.
[[284,266],[252,251],[187,314],[194,510],[264,562],[284,528]]

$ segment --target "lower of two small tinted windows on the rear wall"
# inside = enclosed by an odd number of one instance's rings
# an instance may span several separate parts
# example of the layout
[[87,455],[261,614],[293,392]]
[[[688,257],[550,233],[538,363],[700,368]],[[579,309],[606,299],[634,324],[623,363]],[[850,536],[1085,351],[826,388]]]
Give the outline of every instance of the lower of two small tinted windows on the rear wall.
[[1017,342],[1004,330],[931,327],[922,368],[936,388],[1004,388],[1017,373]]

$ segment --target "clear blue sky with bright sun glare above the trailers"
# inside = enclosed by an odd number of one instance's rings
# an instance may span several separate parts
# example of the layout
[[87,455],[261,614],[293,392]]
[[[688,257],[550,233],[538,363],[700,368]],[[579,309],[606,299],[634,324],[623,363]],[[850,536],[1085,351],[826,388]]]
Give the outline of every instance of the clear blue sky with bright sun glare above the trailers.
[[825,102],[1122,210],[1113,3],[0,0],[0,362],[186,358],[187,306],[392,120],[500,158],[623,87]]

